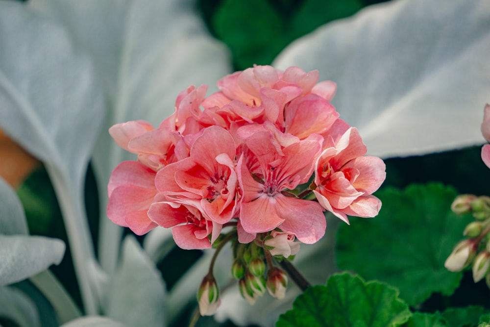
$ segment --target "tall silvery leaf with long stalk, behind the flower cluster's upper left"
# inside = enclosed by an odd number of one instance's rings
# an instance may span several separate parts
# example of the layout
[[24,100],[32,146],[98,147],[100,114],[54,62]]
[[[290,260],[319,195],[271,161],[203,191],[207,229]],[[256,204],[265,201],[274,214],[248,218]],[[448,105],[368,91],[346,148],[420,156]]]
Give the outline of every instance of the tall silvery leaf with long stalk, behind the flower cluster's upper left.
[[193,9],[180,0],[33,0],[29,5],[57,20],[75,45],[89,53],[109,95],[109,120],[94,155],[98,174],[101,264],[116,265],[121,228],[105,215],[111,171],[136,156],[120,149],[106,132],[117,123],[146,120],[158,126],[189,85],[210,89],[231,70],[228,51],[213,39]]

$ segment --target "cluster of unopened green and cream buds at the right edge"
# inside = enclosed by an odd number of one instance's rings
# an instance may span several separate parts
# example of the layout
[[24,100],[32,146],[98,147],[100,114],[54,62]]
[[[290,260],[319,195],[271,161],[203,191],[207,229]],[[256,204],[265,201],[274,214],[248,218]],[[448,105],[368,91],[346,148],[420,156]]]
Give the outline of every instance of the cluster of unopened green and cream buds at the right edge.
[[475,283],[485,277],[490,287],[490,197],[460,195],[451,210],[457,214],[471,213],[475,221],[465,227],[463,234],[469,238],[456,245],[444,266],[458,272],[472,265]]

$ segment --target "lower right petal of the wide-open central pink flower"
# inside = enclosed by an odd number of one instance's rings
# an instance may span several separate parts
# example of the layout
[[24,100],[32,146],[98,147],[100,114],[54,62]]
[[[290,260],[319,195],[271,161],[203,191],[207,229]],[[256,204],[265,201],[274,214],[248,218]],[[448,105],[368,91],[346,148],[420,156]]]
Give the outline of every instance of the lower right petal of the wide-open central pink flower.
[[280,195],[274,198],[276,210],[284,219],[279,228],[293,233],[300,242],[306,244],[316,243],[323,237],[326,221],[319,203]]

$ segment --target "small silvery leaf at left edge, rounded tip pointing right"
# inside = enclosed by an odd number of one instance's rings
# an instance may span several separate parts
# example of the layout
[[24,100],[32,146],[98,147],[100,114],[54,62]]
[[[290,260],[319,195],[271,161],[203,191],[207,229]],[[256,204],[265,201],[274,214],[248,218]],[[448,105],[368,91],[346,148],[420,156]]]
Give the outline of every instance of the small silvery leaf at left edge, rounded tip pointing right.
[[61,240],[28,235],[0,235],[0,286],[21,281],[52,264],[65,253]]

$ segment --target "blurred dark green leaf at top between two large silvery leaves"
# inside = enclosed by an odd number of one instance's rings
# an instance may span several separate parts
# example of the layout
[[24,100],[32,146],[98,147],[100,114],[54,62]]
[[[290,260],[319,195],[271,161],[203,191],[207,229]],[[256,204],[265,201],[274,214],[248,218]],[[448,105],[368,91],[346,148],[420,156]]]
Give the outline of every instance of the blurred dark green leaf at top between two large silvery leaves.
[[254,64],[269,65],[295,38],[361,7],[358,0],[223,0],[211,25],[232,50],[235,66],[243,70]]

